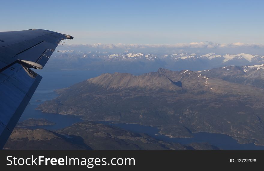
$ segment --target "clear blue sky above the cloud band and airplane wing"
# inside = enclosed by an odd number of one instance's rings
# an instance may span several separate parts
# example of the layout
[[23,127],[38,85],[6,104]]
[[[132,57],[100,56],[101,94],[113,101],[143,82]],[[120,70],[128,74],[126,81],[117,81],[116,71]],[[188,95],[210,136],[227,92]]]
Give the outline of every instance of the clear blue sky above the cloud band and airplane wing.
[[0,31],[48,29],[72,44],[264,43],[263,1],[1,1]]

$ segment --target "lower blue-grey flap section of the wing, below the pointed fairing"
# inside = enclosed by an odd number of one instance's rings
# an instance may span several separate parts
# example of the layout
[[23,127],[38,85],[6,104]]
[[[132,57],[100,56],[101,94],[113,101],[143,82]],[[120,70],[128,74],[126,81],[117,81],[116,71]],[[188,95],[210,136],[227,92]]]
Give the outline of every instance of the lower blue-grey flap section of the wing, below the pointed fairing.
[[0,73],[0,149],[16,126],[41,78],[18,63]]

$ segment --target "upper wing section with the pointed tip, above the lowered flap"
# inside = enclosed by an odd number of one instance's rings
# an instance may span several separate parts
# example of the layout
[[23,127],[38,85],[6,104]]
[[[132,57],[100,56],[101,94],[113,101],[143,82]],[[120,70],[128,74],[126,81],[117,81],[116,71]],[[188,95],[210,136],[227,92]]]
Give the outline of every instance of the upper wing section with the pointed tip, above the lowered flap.
[[41,29],[0,32],[0,70],[19,60],[36,62],[44,67],[60,41],[72,38]]

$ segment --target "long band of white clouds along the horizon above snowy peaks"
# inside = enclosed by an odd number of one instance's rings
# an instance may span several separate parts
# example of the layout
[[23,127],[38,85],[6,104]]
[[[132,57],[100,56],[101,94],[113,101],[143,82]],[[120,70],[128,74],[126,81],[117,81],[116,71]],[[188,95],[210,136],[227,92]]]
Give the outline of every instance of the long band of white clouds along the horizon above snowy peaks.
[[245,44],[241,42],[218,44],[211,41],[178,44],[65,44],[57,50],[76,50],[81,52],[99,51],[111,53],[137,52],[154,54],[215,52],[220,55],[249,53],[264,55],[264,44]]

